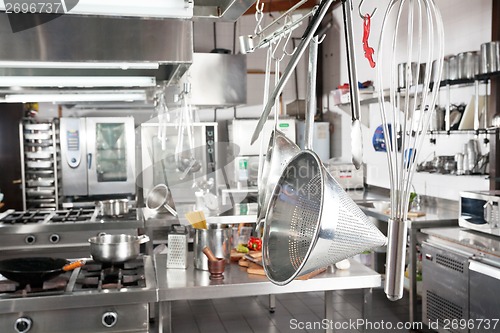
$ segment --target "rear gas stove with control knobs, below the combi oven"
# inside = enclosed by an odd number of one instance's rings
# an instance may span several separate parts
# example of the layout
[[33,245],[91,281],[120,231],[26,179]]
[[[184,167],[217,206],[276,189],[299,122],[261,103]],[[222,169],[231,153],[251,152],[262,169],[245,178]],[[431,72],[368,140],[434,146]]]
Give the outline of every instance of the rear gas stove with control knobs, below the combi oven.
[[88,256],[88,239],[103,233],[132,234],[144,227],[143,219],[131,209],[125,216],[101,216],[98,208],[58,211],[8,210],[0,214],[0,258],[39,255]]

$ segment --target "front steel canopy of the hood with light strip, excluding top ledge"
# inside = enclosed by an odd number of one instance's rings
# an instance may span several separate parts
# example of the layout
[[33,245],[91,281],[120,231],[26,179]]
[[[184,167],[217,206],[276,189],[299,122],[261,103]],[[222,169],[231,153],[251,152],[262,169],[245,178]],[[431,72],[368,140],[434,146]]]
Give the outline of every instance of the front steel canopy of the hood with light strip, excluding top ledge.
[[62,15],[14,33],[1,13],[0,44],[0,101],[3,90],[144,89],[177,80],[189,68],[193,23]]

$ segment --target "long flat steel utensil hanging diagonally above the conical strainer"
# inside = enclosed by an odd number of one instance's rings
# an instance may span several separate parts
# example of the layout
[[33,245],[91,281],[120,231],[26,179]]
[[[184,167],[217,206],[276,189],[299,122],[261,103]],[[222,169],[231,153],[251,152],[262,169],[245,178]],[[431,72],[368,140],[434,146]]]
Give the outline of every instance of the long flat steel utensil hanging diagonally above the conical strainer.
[[330,5],[332,4],[333,0],[323,0],[316,12],[314,13],[314,16],[312,17],[311,21],[309,22],[309,25],[307,26],[306,30],[304,31],[304,34],[302,35],[302,39],[297,46],[297,49],[293,53],[293,55],[290,57],[290,60],[288,62],[288,65],[286,66],[283,75],[280,78],[279,83],[274,87],[274,91],[269,97],[269,100],[267,101],[267,104],[264,107],[264,110],[262,111],[262,114],[259,118],[259,122],[257,123],[257,126],[255,128],[255,131],[252,135],[252,140],[251,144],[257,140],[257,138],[260,135],[260,132],[262,132],[262,129],[264,128],[264,124],[267,121],[267,118],[269,117],[269,113],[271,112],[271,109],[274,105],[274,101],[276,98],[281,94],[283,91],[283,88],[285,87],[285,84],[287,83],[288,79],[293,73],[293,70],[295,67],[297,67],[297,64],[300,61],[300,58],[304,54],[304,51],[306,47],[309,45],[311,42],[311,39],[313,38],[314,34],[316,33],[316,30],[318,29],[319,25],[321,24],[321,21],[325,17],[326,13],[328,12],[328,9]]

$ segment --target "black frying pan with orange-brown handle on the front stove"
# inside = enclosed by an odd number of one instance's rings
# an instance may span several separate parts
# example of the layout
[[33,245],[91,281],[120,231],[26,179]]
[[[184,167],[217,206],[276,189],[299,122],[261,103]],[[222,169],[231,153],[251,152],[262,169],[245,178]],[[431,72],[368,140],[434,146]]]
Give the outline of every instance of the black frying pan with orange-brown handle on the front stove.
[[44,281],[84,264],[82,260],[70,263],[66,259],[49,257],[14,258],[0,261],[0,274],[21,285],[40,287]]

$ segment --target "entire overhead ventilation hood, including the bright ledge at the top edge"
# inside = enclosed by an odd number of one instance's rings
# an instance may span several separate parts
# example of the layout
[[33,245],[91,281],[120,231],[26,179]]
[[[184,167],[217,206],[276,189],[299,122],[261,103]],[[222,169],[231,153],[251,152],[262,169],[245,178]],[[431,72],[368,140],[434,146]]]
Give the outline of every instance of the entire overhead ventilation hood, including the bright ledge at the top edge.
[[6,14],[1,2],[0,102],[51,91],[66,100],[140,89],[149,98],[191,66],[193,20],[234,21],[254,2],[65,0],[64,15],[22,16]]

